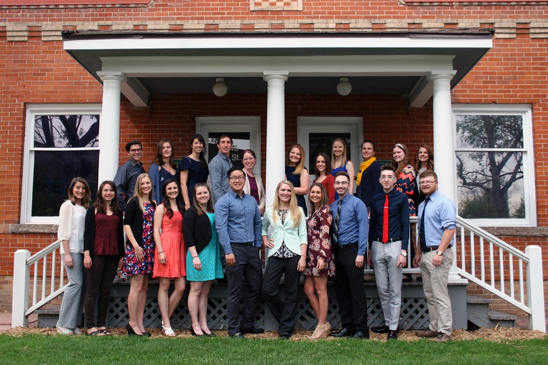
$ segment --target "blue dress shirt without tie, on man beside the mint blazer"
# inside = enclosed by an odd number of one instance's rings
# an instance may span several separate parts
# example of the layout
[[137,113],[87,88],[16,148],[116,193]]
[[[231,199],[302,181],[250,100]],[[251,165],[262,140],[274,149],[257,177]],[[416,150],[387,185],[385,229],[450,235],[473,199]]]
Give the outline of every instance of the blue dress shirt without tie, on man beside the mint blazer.
[[255,242],[261,247],[261,213],[253,196],[242,197],[232,190],[215,204],[215,227],[225,254],[232,253],[233,242]]

